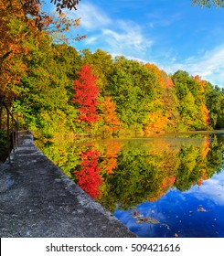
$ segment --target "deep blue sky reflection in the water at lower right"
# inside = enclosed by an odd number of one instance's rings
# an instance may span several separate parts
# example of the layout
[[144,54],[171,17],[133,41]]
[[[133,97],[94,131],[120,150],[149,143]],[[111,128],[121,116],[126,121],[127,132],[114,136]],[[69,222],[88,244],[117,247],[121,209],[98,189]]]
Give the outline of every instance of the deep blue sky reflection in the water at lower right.
[[[159,223],[136,223],[134,211]],[[144,202],[128,211],[116,209],[114,215],[139,237],[224,238],[224,171],[200,187],[185,192],[170,189],[155,202]]]

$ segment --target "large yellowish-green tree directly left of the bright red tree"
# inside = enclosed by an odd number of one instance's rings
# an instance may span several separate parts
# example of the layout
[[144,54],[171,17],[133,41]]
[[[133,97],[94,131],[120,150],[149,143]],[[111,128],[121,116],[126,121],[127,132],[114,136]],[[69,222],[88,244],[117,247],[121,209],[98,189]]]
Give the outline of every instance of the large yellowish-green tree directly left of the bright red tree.
[[51,47],[47,35],[38,45],[35,42],[29,43],[29,54],[24,57],[27,72],[21,78],[14,108],[23,116],[25,127],[49,138],[73,130],[69,120],[78,112],[69,105],[66,87],[70,81],[55,59],[58,49]]

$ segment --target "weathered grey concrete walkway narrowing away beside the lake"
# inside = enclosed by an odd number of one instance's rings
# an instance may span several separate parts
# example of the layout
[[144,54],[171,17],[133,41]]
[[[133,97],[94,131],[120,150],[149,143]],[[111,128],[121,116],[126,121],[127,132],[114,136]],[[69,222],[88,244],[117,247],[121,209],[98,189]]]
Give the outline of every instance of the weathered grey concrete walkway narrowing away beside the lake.
[[0,237],[135,237],[19,133],[12,165],[0,166]]

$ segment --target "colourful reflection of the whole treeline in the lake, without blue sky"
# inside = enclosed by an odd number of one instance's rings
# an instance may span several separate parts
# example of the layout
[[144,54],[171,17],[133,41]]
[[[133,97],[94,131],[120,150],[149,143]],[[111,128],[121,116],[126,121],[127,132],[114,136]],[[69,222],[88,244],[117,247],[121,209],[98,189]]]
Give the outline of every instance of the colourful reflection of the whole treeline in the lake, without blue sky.
[[152,141],[148,147],[144,144],[144,150],[135,143],[108,140],[72,147],[51,144],[43,151],[112,211],[155,201],[171,187],[185,191],[200,186],[223,167],[224,138],[217,135],[177,146],[160,138],[157,146],[152,146]]

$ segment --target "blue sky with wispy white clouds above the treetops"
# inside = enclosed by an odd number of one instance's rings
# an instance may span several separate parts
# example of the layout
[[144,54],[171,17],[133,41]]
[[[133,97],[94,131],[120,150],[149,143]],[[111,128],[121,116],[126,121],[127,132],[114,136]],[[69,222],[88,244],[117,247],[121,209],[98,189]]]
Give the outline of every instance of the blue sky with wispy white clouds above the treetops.
[[70,15],[81,18],[74,33],[87,35],[73,45],[78,50],[101,48],[224,87],[224,8],[201,9],[191,0],[81,0]]

